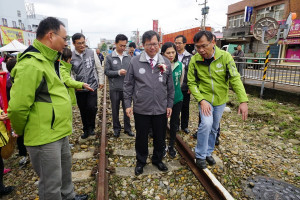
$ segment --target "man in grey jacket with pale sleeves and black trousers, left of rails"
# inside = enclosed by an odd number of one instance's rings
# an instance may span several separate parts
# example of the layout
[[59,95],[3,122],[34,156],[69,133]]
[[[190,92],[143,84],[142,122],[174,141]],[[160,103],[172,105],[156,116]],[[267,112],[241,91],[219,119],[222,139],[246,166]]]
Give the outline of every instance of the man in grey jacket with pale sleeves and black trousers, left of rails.
[[83,124],[82,139],[95,135],[95,119],[97,113],[97,89],[104,86],[104,73],[96,52],[87,49],[85,36],[75,33],[72,36],[75,50],[72,52],[72,74],[76,81],[90,85],[94,91],[76,90],[77,105]]

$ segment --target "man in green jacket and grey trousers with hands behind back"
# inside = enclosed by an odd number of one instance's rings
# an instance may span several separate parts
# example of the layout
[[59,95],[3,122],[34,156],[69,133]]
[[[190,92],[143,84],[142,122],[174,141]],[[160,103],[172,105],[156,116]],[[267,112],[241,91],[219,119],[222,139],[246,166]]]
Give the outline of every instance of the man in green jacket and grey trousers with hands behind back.
[[87,199],[75,195],[71,175],[72,108],[59,71],[67,32],[61,21],[48,17],[40,22],[36,37],[12,70],[8,116],[15,133],[24,135],[40,178],[39,199]]

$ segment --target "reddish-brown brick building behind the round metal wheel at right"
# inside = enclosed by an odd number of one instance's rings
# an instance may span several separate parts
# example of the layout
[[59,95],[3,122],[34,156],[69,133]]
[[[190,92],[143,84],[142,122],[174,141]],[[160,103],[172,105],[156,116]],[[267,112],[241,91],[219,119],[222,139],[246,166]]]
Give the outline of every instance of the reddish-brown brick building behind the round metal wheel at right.
[[[252,16],[249,22],[244,22],[246,6],[253,7]],[[295,37],[300,37],[299,0],[243,0],[229,5],[227,25],[223,28],[222,43],[244,44],[245,53],[255,53],[260,57],[259,55],[263,55],[266,52],[267,45],[262,44],[261,41],[254,38],[252,32],[253,25],[259,19],[264,17],[272,17],[276,21],[282,22],[286,20],[290,12],[296,12],[297,18],[293,21],[288,39],[285,41],[281,40],[278,44],[271,45],[270,53],[272,57],[293,57],[293,52],[298,51],[300,45],[300,38],[299,40],[294,39]],[[298,53],[296,54],[298,55]]]

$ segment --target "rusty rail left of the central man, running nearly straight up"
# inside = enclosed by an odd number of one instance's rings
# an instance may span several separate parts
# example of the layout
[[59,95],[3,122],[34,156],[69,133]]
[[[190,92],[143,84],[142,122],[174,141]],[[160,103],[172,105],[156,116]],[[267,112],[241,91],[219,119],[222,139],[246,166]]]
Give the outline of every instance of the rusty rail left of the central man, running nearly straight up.
[[100,136],[100,147],[99,147],[99,161],[98,161],[98,181],[97,181],[97,200],[107,200],[108,199],[108,174],[106,172],[107,168],[107,156],[106,156],[106,146],[107,146],[107,126],[106,126],[106,82],[104,79],[103,88],[103,107],[102,107],[102,128]]

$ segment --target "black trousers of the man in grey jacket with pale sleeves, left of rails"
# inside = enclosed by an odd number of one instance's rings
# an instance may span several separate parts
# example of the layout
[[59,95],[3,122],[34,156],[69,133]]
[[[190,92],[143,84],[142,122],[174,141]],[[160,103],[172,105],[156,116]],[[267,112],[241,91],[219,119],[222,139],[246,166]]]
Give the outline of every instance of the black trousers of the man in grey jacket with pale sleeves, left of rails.
[[97,114],[97,90],[94,92],[76,92],[76,99],[80,110],[83,131],[94,130]]

